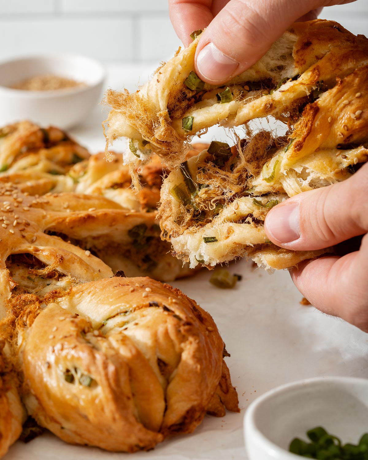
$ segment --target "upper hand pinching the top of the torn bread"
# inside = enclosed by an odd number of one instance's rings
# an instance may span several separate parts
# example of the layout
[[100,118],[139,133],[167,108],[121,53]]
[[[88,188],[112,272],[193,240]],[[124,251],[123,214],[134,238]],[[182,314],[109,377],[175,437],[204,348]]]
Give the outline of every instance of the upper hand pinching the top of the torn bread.
[[258,61],[294,21],[315,19],[323,6],[352,1],[169,0],[169,8],[185,46],[194,30],[207,27],[196,50],[196,73],[219,84]]

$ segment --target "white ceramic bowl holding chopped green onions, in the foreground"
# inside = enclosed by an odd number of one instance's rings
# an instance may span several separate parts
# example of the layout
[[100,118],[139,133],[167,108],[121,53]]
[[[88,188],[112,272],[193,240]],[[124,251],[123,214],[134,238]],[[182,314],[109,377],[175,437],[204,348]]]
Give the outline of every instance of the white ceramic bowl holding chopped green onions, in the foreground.
[[288,452],[294,437],[322,426],[342,443],[368,431],[368,380],[326,377],[280,386],[257,398],[244,416],[249,460],[297,460]]

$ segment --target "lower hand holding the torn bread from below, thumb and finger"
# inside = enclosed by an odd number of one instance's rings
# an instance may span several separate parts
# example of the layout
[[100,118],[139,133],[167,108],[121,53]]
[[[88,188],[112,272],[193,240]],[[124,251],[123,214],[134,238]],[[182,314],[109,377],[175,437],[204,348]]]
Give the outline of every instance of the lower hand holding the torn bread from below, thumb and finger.
[[359,250],[307,260],[291,270],[299,291],[319,310],[368,332],[368,164],[339,184],[293,196],[270,210],[265,231],[297,251],[364,235]]

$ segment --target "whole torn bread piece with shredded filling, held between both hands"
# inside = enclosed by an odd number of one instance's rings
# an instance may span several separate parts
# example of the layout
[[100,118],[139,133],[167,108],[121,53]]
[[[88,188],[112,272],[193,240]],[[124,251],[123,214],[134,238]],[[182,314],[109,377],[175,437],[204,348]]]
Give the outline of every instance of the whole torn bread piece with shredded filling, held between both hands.
[[[143,142],[139,161],[152,151],[178,165],[194,134],[216,123],[246,124],[234,146],[213,142],[165,179],[162,237],[191,267],[247,256],[282,269],[326,252],[280,249],[267,240],[263,224],[277,203],[349,178],[367,161],[368,40],[332,21],[295,23],[258,63],[221,88],[193,75],[197,41],[138,92],[107,94],[113,107],[107,137],[132,138],[127,162],[138,161],[132,154]],[[268,115],[288,123],[285,136],[250,131],[249,120]]]

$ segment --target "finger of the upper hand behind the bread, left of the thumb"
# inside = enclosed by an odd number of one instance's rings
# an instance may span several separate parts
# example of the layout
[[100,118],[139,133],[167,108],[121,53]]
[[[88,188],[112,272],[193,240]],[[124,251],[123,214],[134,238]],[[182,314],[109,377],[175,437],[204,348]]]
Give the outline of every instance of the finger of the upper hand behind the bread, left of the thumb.
[[213,20],[212,0],[169,0],[170,19],[184,46],[193,41],[194,30],[205,29]]

